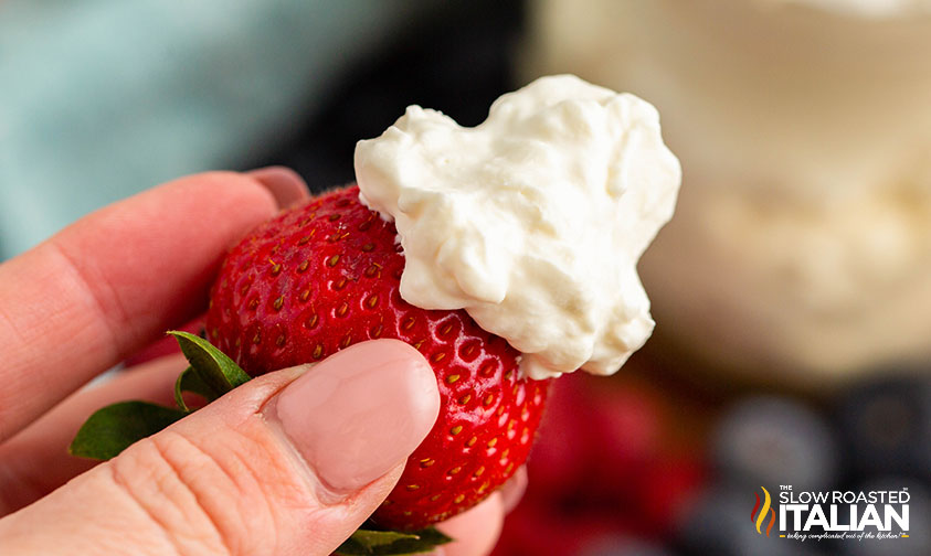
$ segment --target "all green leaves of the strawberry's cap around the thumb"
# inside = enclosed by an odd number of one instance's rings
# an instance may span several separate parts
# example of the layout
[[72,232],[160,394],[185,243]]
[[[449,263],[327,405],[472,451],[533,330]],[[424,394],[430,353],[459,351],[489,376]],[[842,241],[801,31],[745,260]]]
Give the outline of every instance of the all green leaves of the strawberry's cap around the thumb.
[[[191,407],[184,399],[184,393],[195,394],[210,403],[252,378],[203,338],[183,331],[169,331],[168,334],[174,336],[190,363],[174,382],[178,407],[141,400],[119,402],[103,407],[81,426],[68,446],[68,453],[102,461],[115,458],[134,442],[155,435],[199,409],[197,406]],[[404,556],[431,552],[451,541],[435,527],[402,532],[379,528],[366,522],[335,554]]]

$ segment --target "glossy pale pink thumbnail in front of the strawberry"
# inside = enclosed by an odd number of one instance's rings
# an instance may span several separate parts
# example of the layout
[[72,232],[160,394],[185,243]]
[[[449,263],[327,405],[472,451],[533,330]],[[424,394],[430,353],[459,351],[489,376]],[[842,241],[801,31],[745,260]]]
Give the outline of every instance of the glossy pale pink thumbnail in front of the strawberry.
[[322,485],[352,492],[403,462],[440,414],[436,376],[398,340],[363,342],[278,394],[281,427]]

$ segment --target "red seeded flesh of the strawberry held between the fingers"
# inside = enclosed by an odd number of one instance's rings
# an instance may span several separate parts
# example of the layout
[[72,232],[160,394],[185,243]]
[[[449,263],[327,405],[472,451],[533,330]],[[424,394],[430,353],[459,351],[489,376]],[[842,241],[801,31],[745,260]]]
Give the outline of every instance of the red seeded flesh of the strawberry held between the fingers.
[[519,352],[465,311],[401,299],[394,226],[358,195],[356,186],[330,192],[234,247],[213,286],[208,338],[251,375],[377,338],[420,350],[436,373],[442,409],[373,518],[422,528],[475,505],[523,463],[548,384],[520,378]]

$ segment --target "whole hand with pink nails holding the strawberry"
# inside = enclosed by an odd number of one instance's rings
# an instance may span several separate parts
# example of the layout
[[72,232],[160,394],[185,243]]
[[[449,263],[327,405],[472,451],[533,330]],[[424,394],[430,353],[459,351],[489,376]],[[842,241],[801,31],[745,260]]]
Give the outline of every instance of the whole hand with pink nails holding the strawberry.
[[[104,405],[170,405],[170,355],[89,379],[202,313],[225,250],[308,196],[284,168],[182,178],[0,265],[4,555],[327,555],[384,500],[440,408],[413,348],[364,342],[268,373],[104,463],[66,448]],[[526,475],[438,527],[490,552]]]

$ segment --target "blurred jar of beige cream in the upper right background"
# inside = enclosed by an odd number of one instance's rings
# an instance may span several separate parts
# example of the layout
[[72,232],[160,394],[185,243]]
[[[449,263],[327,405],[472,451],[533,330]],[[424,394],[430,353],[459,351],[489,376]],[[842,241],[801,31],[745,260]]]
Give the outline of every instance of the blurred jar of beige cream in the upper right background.
[[931,359],[931,0],[578,4],[535,4],[521,68],[663,114],[688,169],[639,264],[664,350],[806,388]]

